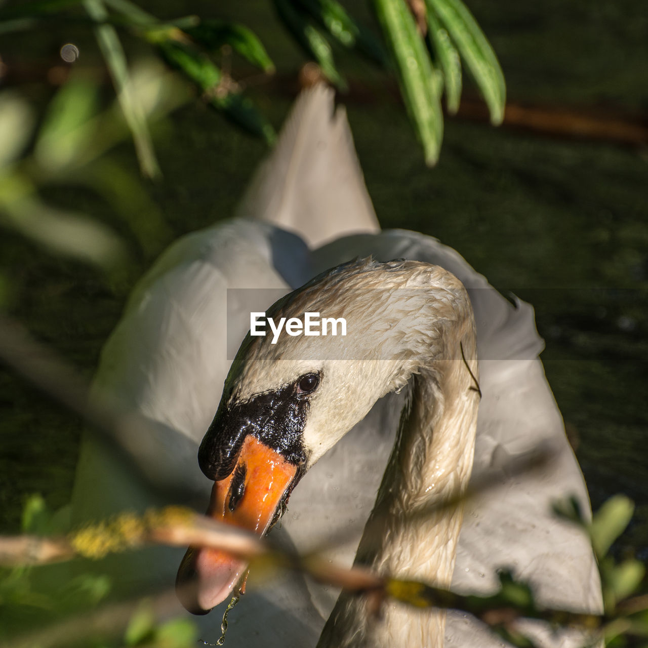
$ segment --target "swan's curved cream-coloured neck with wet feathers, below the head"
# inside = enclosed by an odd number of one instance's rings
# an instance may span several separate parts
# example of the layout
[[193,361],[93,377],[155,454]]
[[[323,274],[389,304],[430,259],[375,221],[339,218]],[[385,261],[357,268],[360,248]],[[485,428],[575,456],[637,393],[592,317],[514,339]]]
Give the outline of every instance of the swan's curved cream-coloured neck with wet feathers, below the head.
[[[356,564],[376,573],[450,586],[463,520],[479,402],[472,311],[443,332],[437,360],[415,375]],[[319,647],[442,648],[445,612],[386,603],[380,623],[360,597],[338,599]]]

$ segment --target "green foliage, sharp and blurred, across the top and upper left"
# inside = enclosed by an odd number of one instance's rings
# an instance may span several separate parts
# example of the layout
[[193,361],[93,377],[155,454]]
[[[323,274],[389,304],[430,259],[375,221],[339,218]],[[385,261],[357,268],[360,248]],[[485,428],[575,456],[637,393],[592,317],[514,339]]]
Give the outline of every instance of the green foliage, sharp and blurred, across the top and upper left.
[[[389,68],[380,38],[336,0],[273,2],[295,41],[338,87],[345,87],[345,81],[329,39],[357,49],[378,67]],[[494,123],[502,121],[505,91],[492,49],[461,0],[430,0],[421,7],[427,19],[415,23],[406,0],[373,3],[424,157],[433,165],[443,139],[441,93],[445,87],[448,110],[456,111],[461,58],[476,78]],[[94,34],[115,100],[106,108],[100,80],[83,67],[73,70],[44,115],[36,115],[16,90],[0,93],[0,227],[13,229],[54,253],[95,264],[115,282],[128,255],[122,237],[93,214],[50,205],[43,191],[56,184],[82,185],[124,216],[143,249],[157,249],[157,241],[168,238],[165,223],[138,181],[104,154],[130,133],[141,173],[158,176],[150,130],[189,100],[190,93],[178,77],[151,60],[145,65],[129,64],[124,34],[152,47],[151,53],[177,69],[211,106],[269,144],[275,139],[272,125],[230,75],[227,61],[234,51],[264,74],[273,73],[275,66],[259,38],[230,21],[195,15],[161,20],[130,0],[33,0],[0,6],[0,33],[4,34],[38,34],[50,24],[65,21]],[[65,47],[69,63],[75,63],[78,48]],[[3,282],[0,277],[0,299],[8,300]]]

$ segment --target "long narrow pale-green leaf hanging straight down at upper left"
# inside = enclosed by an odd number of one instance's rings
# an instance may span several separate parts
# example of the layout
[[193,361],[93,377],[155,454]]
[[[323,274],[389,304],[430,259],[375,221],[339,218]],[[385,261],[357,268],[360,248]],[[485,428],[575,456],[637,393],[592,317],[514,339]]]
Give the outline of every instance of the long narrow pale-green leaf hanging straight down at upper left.
[[132,91],[128,65],[126,64],[126,54],[124,54],[117,31],[112,25],[103,22],[108,18],[108,12],[102,0],[84,0],[84,6],[87,14],[94,21],[102,23],[95,28],[99,49],[106,60],[113,86],[115,86],[117,92],[117,100],[124,113],[126,124],[128,124],[128,128],[132,133],[139,166],[146,177],[155,178],[160,171],[153,150],[153,143],[148,132],[145,113],[137,103]]

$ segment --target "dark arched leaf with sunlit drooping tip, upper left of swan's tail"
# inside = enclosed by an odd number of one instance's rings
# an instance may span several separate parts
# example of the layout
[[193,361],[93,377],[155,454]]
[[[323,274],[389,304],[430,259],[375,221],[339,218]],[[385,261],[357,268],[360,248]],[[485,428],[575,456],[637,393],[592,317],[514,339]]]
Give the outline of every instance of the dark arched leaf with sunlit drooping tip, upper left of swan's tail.
[[264,72],[275,71],[275,64],[268,56],[268,52],[259,38],[243,25],[226,23],[221,20],[202,20],[195,27],[185,29],[185,33],[207,49],[216,50],[223,45],[229,45],[235,52],[244,56],[252,65],[260,67]]

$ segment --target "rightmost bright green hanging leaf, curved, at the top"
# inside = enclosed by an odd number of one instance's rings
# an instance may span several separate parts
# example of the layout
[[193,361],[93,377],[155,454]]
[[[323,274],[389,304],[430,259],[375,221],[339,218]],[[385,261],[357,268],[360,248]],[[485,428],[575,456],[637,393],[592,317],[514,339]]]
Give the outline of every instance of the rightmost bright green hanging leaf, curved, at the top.
[[506,86],[491,44],[461,0],[426,1],[428,12],[434,11],[439,16],[474,76],[491,113],[492,124],[501,124]]

